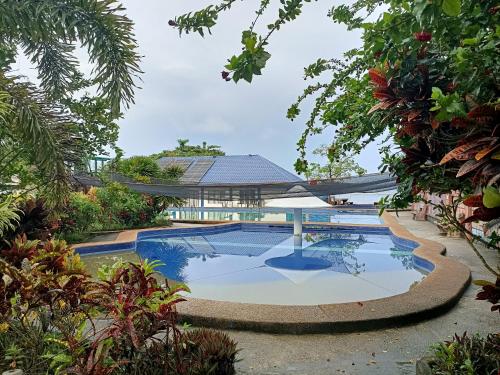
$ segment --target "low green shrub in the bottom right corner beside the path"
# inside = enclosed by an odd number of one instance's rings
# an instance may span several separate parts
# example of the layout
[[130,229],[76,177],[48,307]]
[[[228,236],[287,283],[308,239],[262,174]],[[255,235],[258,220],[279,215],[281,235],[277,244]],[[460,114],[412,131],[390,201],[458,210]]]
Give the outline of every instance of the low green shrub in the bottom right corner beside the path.
[[436,375],[497,374],[500,368],[500,335],[456,335],[432,348],[432,373]]

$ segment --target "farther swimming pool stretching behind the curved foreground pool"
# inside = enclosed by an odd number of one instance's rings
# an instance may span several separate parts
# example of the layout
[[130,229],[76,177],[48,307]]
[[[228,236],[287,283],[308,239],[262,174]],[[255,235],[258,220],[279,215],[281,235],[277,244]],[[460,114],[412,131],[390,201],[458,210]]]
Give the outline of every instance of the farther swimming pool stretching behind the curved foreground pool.
[[[181,207],[167,211],[174,220],[293,222],[293,208]],[[380,224],[375,209],[304,208],[302,220],[311,223]]]

